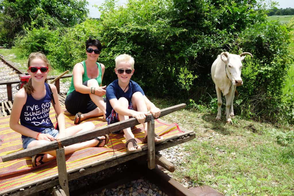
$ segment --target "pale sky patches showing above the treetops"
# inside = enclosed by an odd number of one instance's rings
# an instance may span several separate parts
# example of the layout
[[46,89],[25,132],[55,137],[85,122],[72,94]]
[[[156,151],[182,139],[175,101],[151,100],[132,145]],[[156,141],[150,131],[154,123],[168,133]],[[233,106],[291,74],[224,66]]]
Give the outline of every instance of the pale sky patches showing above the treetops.
[[[118,0],[117,4],[118,5],[124,5],[126,4],[128,0]],[[92,7],[93,5],[98,5],[100,6],[104,0],[88,0],[89,5],[88,5],[88,9],[90,12],[90,17],[92,18],[99,18],[100,17],[100,13],[98,11],[97,8]],[[294,0],[276,0],[276,2],[278,2],[280,5],[277,6],[278,8],[294,8]]]

